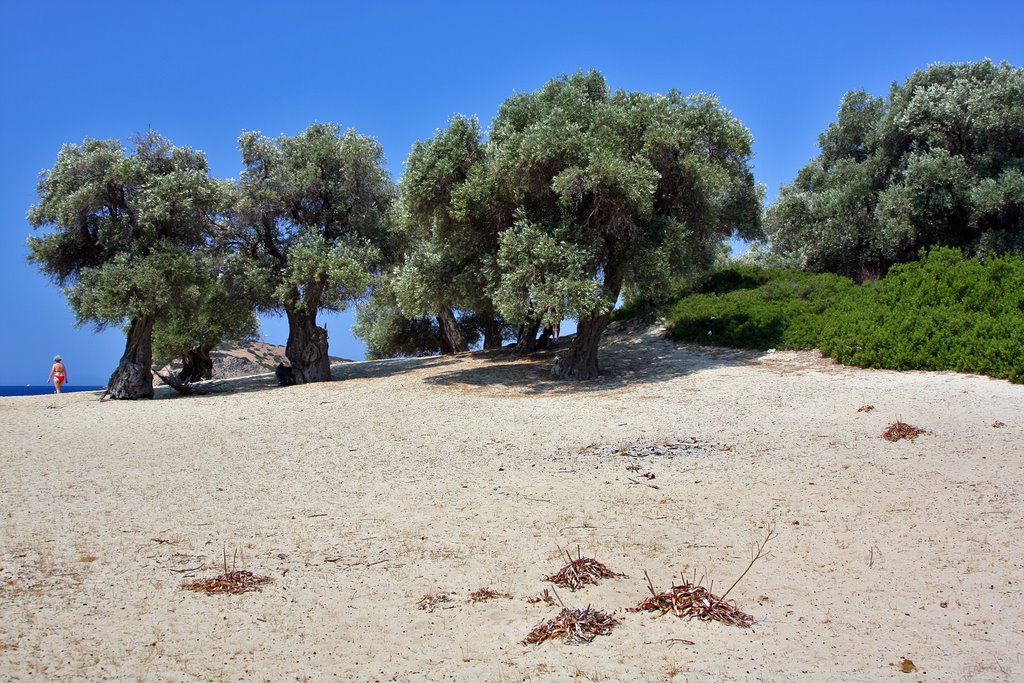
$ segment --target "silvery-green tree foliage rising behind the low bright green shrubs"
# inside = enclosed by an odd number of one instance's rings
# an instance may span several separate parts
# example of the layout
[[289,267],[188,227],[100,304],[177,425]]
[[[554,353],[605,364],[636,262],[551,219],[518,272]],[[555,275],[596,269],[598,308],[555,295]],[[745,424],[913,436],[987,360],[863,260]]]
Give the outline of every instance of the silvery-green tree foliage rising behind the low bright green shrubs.
[[936,65],[887,98],[848,92],[819,142],[768,210],[773,253],[859,278],[935,244],[1020,249],[1024,69]]

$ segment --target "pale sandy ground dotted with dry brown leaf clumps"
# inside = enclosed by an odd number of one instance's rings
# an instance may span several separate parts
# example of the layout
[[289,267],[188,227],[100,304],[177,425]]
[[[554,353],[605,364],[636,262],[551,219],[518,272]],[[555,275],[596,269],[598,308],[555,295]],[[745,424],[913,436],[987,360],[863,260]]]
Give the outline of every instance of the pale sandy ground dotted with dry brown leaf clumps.
[[[1024,386],[606,337],[580,385],[502,351],[0,398],[0,679],[1024,679]],[[638,441],[689,445],[602,450]],[[626,611],[645,571],[724,590],[768,524],[753,628]],[[622,623],[524,645],[578,547],[627,577],[559,597]],[[271,583],[181,588],[225,554]]]

